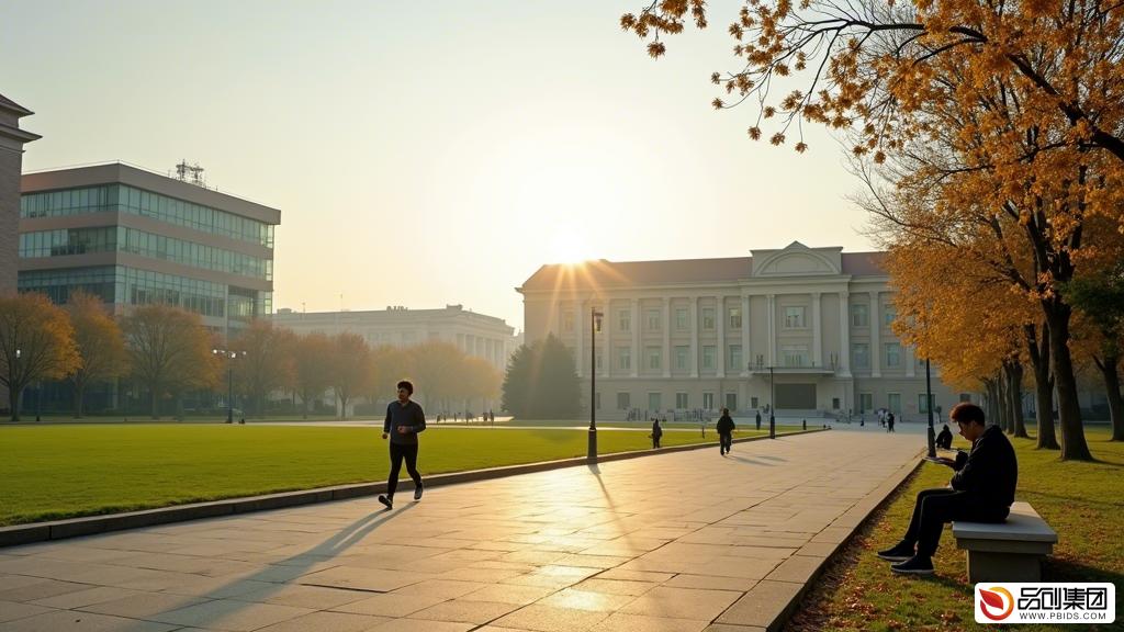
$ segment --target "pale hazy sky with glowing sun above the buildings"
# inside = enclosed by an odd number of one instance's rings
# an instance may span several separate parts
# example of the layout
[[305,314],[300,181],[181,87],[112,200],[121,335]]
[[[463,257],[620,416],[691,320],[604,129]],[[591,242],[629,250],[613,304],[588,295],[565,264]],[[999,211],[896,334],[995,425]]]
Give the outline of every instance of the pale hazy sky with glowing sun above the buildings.
[[522,329],[543,263],[870,250],[834,141],[710,108],[740,2],[660,61],[617,26],[644,3],[0,0],[0,93],[36,112],[25,170],[187,159],[280,208],[275,308]]

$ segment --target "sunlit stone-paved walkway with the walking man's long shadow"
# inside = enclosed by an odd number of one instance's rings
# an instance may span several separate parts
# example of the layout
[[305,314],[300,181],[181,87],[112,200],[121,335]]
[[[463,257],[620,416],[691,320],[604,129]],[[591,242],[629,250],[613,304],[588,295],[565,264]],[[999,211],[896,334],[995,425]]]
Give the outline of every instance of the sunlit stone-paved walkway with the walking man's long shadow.
[[420,503],[407,484],[392,512],[365,497],[0,549],[0,630],[758,632],[922,448],[855,426]]

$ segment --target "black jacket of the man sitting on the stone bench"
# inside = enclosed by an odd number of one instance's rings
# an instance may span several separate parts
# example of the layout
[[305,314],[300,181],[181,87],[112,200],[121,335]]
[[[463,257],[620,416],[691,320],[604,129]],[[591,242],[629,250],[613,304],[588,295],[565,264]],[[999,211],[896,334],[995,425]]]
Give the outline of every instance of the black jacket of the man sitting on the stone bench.
[[972,443],[972,451],[957,457],[952,488],[967,491],[972,500],[987,507],[1010,507],[1015,502],[1018,462],[1015,449],[999,426],[988,426]]

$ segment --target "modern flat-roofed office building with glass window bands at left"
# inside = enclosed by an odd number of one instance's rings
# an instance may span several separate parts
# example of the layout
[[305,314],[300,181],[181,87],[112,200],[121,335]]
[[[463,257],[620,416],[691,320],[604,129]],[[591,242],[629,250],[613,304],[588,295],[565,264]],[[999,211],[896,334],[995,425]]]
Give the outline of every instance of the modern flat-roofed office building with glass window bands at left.
[[27,173],[19,207],[19,291],[55,303],[83,289],[115,312],[163,303],[216,332],[272,312],[281,211],[110,163]]

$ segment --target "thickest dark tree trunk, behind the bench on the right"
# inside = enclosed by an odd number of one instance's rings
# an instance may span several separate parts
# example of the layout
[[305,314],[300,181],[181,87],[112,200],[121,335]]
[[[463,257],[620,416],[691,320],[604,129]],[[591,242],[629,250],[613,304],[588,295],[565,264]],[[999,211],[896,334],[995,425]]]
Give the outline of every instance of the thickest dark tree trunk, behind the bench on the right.
[[1077,399],[1073,358],[1069,352],[1069,318],[1071,309],[1057,298],[1042,303],[1050,324],[1050,356],[1058,386],[1058,421],[1061,424],[1061,459],[1091,461],[1089,444],[1081,425],[1081,406]]

